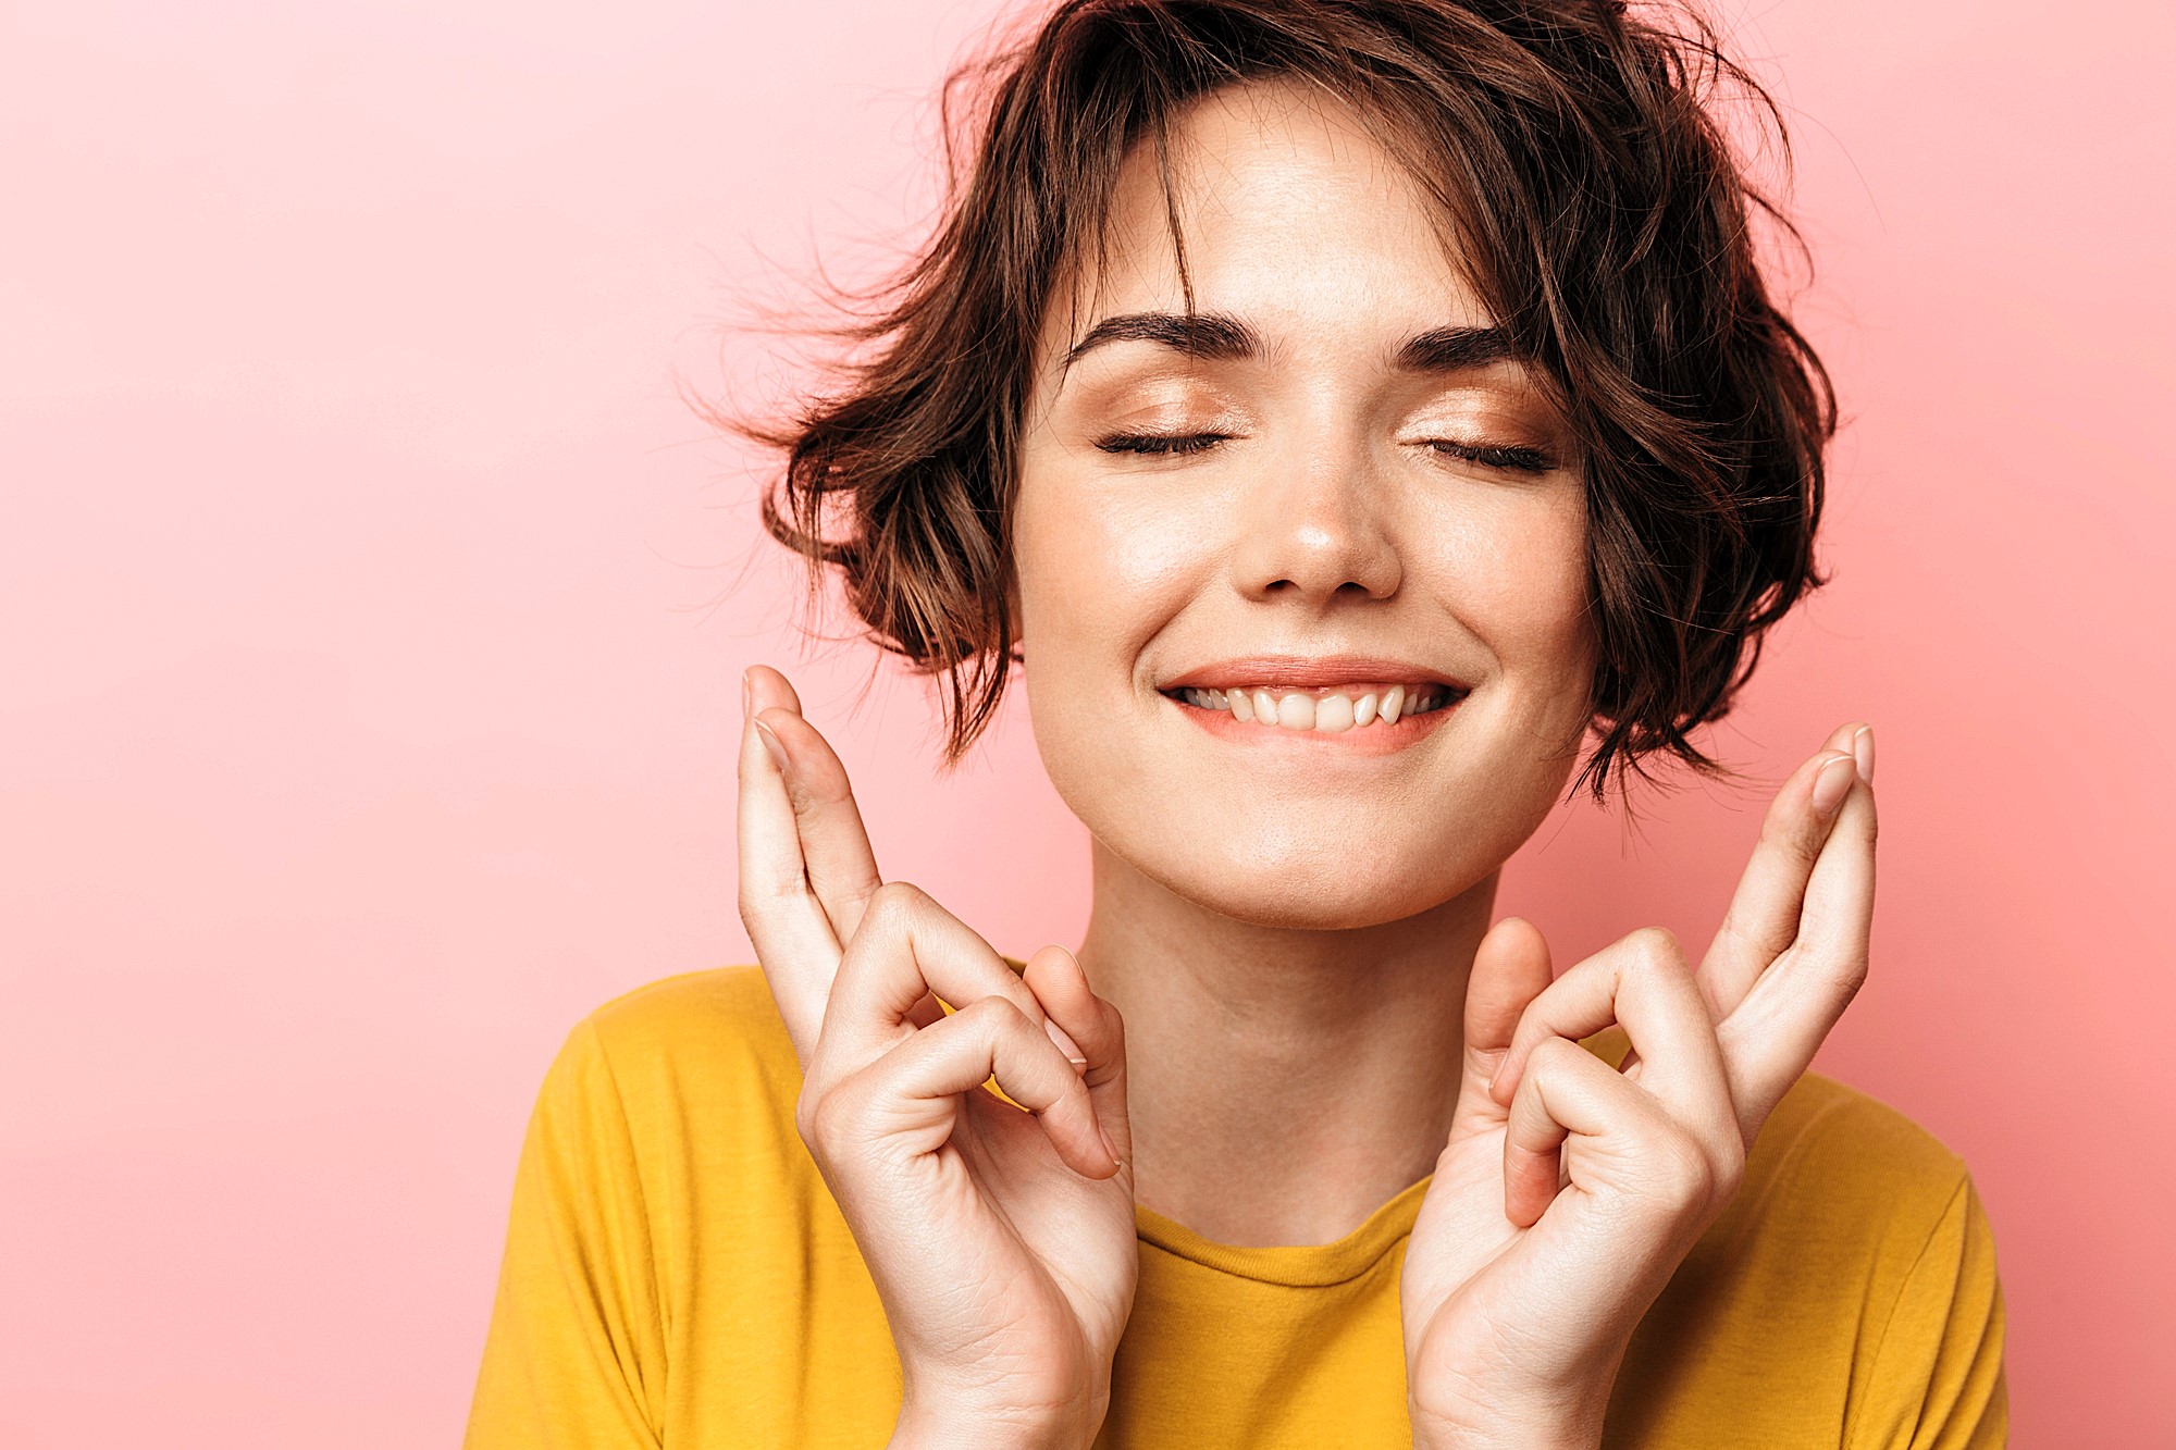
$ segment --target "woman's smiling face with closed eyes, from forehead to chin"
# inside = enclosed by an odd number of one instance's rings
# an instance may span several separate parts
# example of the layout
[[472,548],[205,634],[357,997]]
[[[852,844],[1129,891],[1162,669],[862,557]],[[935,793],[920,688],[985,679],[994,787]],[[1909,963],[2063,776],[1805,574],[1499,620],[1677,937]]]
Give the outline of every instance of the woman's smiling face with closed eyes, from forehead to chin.
[[1575,764],[1573,444],[1347,111],[1219,91],[1173,183],[1197,320],[1138,148],[1108,270],[1042,331],[1014,531],[1036,742],[1097,840],[1186,899],[1410,917],[1488,877]]

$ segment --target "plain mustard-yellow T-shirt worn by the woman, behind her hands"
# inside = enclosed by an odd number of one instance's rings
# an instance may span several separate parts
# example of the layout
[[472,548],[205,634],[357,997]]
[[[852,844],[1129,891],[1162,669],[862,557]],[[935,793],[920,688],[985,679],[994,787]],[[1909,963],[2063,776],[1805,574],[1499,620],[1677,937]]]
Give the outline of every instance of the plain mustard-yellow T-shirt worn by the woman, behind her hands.
[[[1584,1045],[1625,1052],[1619,1028]],[[574,1028],[516,1171],[468,1450],[886,1443],[899,1356],[794,1132],[799,1091],[757,967],[657,982]],[[1425,1189],[1306,1248],[1210,1243],[1136,1208],[1097,1446],[1410,1446],[1397,1276]],[[1634,1335],[1604,1446],[2004,1446],[2002,1330],[1963,1160],[1808,1073]]]

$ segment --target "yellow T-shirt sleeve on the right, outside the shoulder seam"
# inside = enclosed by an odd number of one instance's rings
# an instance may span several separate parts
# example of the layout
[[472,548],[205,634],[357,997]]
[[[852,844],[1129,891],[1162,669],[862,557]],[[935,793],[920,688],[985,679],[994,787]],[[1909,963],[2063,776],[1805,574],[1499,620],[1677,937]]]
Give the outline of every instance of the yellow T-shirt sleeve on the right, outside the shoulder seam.
[[1995,1234],[1967,1173],[1904,1276],[1852,1450],[2004,1450],[2004,1324]]

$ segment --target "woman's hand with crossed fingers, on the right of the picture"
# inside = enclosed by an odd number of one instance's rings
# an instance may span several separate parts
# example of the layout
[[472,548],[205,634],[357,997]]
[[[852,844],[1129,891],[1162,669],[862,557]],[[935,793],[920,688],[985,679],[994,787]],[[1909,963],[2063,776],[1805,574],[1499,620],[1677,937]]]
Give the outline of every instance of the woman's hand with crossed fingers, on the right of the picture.
[[[1660,927],[1554,982],[1532,923],[1482,938],[1399,1285],[1414,1446],[1602,1443],[1632,1330],[1865,982],[1871,782],[1858,723],[1784,782],[1697,973]],[[1619,1069],[1578,1043],[1610,1023],[1632,1039]]]

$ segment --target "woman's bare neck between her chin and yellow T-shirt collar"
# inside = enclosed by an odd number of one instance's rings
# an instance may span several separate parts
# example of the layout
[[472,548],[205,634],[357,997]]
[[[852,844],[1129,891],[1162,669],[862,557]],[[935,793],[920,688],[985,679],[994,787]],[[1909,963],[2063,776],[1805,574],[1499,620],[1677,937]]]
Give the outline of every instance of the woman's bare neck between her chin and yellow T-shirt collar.
[[1330,1243],[1434,1169],[1497,873],[1325,932],[1234,921],[1092,851],[1079,960],[1125,1017],[1142,1204],[1216,1243]]

